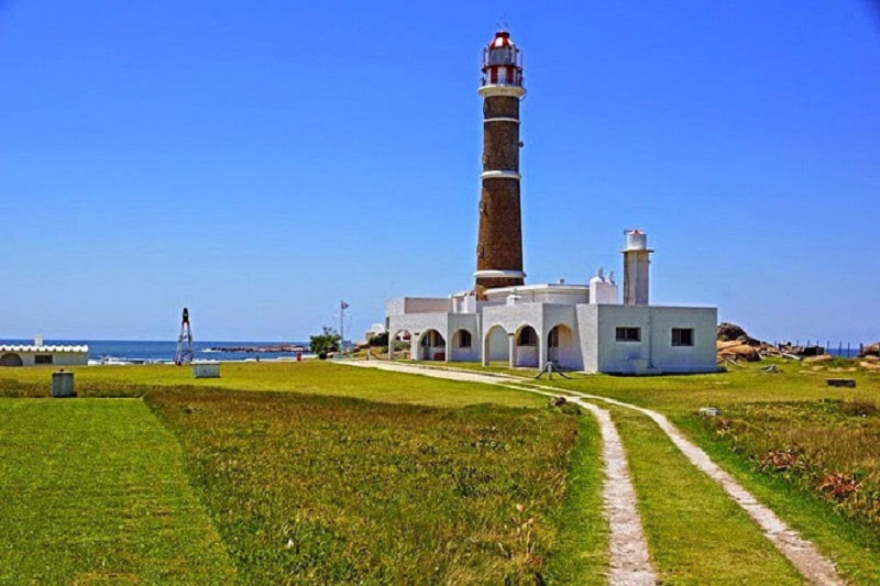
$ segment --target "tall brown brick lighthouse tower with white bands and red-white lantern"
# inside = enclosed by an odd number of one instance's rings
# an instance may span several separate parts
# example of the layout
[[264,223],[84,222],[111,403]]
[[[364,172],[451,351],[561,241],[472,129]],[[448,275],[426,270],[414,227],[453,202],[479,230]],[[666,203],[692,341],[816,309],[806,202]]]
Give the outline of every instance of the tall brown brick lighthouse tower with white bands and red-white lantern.
[[522,59],[506,31],[483,49],[483,173],[476,246],[476,291],[522,285],[519,208],[519,100]]

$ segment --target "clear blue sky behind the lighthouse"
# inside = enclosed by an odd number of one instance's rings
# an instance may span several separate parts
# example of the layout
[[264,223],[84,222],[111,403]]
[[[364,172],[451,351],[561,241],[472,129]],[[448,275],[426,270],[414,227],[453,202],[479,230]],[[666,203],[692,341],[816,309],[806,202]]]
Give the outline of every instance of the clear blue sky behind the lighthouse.
[[880,339],[867,0],[0,0],[0,338],[301,340],[472,285],[482,46],[525,52],[526,270]]

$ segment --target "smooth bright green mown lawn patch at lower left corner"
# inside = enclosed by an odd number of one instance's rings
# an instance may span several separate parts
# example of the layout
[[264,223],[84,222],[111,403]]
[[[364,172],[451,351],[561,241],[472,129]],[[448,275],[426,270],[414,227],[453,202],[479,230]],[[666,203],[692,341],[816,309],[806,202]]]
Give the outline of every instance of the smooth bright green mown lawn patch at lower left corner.
[[235,566],[138,399],[0,400],[0,584],[201,583]]

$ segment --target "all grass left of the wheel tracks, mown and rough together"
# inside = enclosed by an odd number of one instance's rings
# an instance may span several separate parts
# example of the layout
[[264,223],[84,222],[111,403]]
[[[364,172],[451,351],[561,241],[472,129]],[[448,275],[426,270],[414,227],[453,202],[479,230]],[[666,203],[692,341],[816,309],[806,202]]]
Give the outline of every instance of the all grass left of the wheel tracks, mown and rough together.
[[86,398],[0,399],[0,583],[602,579],[601,476],[570,466],[597,432],[543,398],[319,363],[74,371]]

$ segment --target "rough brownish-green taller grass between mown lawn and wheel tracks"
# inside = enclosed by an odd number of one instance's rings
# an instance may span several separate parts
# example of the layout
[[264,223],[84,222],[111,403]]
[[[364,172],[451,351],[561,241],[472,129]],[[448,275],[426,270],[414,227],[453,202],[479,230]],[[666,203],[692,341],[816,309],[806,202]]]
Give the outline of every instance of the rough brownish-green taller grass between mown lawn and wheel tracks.
[[[576,416],[191,388],[146,401],[248,583],[535,583],[559,542]],[[598,489],[591,475],[576,495]],[[602,560],[601,516],[575,513]]]

